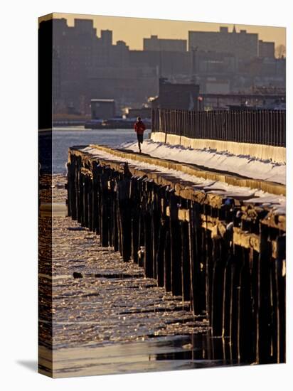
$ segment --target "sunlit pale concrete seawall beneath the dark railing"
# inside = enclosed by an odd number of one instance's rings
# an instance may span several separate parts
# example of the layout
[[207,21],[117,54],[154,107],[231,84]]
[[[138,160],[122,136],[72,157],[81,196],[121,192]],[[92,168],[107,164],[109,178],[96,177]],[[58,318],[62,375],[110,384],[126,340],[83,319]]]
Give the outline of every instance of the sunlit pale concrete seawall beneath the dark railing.
[[166,142],[171,145],[181,145],[186,148],[203,149],[211,148],[218,151],[228,151],[234,155],[253,156],[256,159],[286,162],[286,148],[282,146],[270,146],[262,144],[237,143],[233,141],[221,141],[210,139],[190,139],[185,136],[168,134],[164,132],[151,132],[150,139],[156,142]]

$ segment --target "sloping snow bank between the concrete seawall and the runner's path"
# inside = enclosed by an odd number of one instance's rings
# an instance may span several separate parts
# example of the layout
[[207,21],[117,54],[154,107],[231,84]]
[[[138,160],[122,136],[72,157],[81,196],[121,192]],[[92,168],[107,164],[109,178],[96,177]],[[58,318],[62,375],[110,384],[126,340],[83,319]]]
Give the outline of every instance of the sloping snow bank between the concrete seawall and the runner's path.
[[[138,152],[136,142],[124,143],[119,148]],[[261,161],[251,156],[236,156],[228,153],[228,151],[191,149],[181,145],[164,144],[147,139],[142,144],[142,152],[157,158],[196,164],[197,166],[238,174],[246,178],[271,181],[282,185],[286,183],[286,164],[273,163],[269,160]]]

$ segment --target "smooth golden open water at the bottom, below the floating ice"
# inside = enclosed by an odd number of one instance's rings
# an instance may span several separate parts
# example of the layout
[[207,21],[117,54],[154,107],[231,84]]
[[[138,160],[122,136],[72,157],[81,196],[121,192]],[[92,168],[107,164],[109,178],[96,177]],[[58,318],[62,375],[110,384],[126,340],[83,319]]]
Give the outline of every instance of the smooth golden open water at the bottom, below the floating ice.
[[[168,336],[144,342],[116,343],[53,351],[53,377],[109,375],[241,365],[231,360],[228,341],[208,334]],[[50,352],[40,348],[42,360]],[[222,354],[220,354],[220,352]],[[226,354],[226,353],[227,354]],[[225,355],[226,354],[226,355]],[[46,368],[43,373],[46,373]]]

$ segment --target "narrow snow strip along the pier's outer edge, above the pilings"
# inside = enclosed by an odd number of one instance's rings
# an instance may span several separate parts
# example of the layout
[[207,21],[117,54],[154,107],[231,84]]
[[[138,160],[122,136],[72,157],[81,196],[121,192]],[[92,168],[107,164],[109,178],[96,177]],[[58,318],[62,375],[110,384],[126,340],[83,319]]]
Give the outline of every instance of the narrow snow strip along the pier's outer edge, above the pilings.
[[[125,144],[123,144],[123,147],[125,148]],[[119,146],[119,148],[121,148],[121,146]],[[146,148],[144,147],[144,151],[145,149]],[[227,198],[240,198],[245,203],[255,203],[264,206],[266,205],[275,210],[275,213],[279,215],[284,215],[286,213],[286,198],[284,195],[274,195],[257,189],[251,189],[242,186],[232,186],[228,183],[220,181],[211,181],[210,179],[199,178],[198,176],[183,173],[182,171],[156,166],[155,164],[146,164],[145,162],[137,161],[135,159],[126,159],[122,157],[117,158],[117,156],[97,149],[93,146],[87,146],[83,149],[80,149],[80,151],[86,152],[91,154],[93,157],[100,159],[108,159],[113,161],[117,161],[117,159],[119,159],[121,163],[127,162],[129,165],[138,169],[148,169],[150,171],[159,172],[163,175],[173,176],[178,178],[178,181],[188,181],[190,182],[189,186],[192,186],[195,190],[204,191],[205,193],[225,195]]]

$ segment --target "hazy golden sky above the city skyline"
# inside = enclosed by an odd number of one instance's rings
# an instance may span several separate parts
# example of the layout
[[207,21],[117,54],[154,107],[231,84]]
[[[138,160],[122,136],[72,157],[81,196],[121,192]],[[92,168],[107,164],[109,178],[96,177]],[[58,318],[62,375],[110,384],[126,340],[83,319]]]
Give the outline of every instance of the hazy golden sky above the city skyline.
[[[188,31],[219,31],[220,26],[228,26],[232,31],[233,24],[203,23],[189,21],[165,21],[162,19],[149,18],[125,18],[122,16],[94,16],[79,14],[53,14],[54,18],[66,18],[68,26],[73,26],[74,18],[92,19],[97,28],[97,36],[100,30],[113,31],[113,43],[124,41],[129,48],[142,50],[143,38],[156,35],[159,38],[188,39]],[[286,45],[286,28],[251,26],[236,24],[236,31],[244,29],[247,33],[258,33],[263,41],[275,41],[275,45]]]

